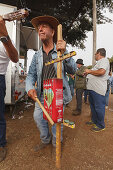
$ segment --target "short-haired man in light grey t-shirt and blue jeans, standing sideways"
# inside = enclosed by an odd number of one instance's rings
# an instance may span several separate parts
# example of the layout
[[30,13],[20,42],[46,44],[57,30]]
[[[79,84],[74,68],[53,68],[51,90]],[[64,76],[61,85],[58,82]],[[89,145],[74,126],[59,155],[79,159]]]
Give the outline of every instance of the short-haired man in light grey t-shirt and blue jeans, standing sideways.
[[105,129],[105,94],[107,90],[107,79],[109,74],[109,60],[106,57],[106,50],[100,48],[95,54],[97,63],[90,70],[86,69],[87,89],[89,91],[89,103],[91,108],[91,121],[87,125],[94,125],[91,130],[100,132]]

